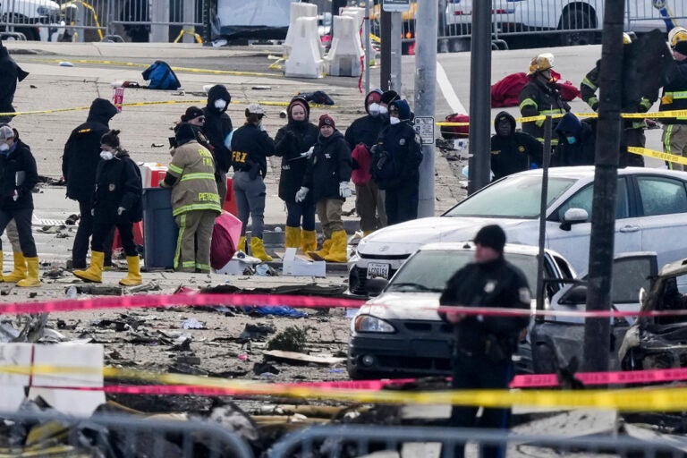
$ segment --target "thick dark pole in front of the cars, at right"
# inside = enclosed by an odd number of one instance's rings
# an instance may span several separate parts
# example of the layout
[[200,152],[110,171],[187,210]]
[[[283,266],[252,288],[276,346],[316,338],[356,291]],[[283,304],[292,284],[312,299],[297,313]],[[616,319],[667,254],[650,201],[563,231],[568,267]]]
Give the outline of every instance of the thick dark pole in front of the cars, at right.
[[[620,151],[620,108],[623,85],[624,0],[606,0],[599,72],[597,150],[591,205],[587,310],[611,310],[611,278],[615,234],[615,194]],[[610,320],[584,320],[585,371],[608,370]]]

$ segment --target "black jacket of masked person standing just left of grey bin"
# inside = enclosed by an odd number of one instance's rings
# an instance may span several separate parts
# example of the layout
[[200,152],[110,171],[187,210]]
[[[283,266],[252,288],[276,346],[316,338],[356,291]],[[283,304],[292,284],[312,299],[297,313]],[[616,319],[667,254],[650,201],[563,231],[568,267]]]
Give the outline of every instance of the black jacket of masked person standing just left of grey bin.
[[143,219],[142,193],[139,166],[129,153],[119,150],[114,159],[100,160],[98,164],[93,216],[98,222],[114,224],[119,218],[117,208],[123,207],[126,208],[123,216],[129,221],[140,221]]

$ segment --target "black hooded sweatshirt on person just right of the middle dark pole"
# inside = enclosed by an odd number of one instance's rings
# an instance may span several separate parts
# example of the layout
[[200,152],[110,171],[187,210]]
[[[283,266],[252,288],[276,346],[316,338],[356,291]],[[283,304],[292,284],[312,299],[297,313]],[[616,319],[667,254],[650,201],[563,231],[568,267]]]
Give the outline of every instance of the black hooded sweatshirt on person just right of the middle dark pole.
[[[498,134],[496,125],[501,121],[510,123],[510,135]],[[491,172],[495,180],[542,165],[543,145],[529,133],[515,131],[515,118],[511,114],[505,111],[496,114],[494,130],[496,135],[491,137]]]

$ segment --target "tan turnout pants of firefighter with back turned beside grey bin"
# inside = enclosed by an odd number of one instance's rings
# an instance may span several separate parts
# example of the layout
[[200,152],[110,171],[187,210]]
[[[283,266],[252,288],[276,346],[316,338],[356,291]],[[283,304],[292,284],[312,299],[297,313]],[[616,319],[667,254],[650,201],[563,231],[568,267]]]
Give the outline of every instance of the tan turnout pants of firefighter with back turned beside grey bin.
[[174,217],[176,225],[179,226],[174,270],[210,271],[210,242],[216,215],[217,212],[212,210],[193,210]]

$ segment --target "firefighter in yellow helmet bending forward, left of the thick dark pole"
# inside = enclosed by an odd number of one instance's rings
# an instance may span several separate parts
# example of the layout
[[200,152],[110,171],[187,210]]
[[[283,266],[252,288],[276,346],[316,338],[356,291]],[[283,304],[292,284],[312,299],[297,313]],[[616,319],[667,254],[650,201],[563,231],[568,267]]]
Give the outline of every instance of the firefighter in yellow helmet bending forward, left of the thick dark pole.
[[[530,61],[530,71],[527,76],[530,81],[520,91],[520,113],[524,117],[540,114],[564,114],[570,111],[570,106],[561,98],[561,92],[556,79],[551,73],[554,66],[554,55],[544,53],[536,55]],[[554,118],[552,129],[556,129],[558,119]],[[544,120],[522,123],[522,131],[544,142]],[[556,136],[551,138],[551,147],[558,144]]]

